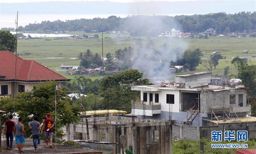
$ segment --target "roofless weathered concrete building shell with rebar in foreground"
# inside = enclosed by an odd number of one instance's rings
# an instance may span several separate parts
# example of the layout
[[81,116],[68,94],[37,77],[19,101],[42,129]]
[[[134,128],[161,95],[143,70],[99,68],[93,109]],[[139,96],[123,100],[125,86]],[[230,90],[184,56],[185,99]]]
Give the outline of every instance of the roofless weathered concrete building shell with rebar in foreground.
[[[106,117],[87,119],[89,137],[86,134],[87,127],[83,118],[77,125],[63,128],[64,133],[67,134],[65,139],[94,141],[93,144],[98,143],[97,149],[103,153],[123,153],[122,147],[124,150],[130,149],[134,154],[171,153],[172,125],[170,122],[131,117],[108,117],[108,120]],[[89,143],[85,147],[89,147]]]

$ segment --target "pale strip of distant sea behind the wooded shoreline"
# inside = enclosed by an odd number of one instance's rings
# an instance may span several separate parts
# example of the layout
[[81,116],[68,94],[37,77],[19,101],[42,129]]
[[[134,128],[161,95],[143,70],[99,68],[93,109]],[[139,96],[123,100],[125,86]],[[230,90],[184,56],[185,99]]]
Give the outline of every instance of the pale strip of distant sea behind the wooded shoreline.
[[[133,16],[136,14],[21,14],[19,13],[18,26],[26,26],[29,23],[41,23],[44,20],[54,21],[54,20],[75,20],[75,19],[93,19],[93,18],[108,18],[109,16],[117,16],[120,18],[125,18],[127,16]],[[153,14],[142,14],[150,15]],[[176,15],[193,15],[193,14],[155,14],[155,15],[166,15],[166,16],[176,16]],[[0,14],[0,28],[2,27],[15,27],[16,14]]]

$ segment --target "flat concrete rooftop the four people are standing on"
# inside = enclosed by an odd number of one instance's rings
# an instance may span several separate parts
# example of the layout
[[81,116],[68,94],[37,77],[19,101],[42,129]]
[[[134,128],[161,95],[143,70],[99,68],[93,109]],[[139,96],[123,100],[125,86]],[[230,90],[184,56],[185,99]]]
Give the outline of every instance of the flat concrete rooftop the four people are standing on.
[[[23,147],[24,153],[35,153],[34,152],[34,145],[33,145],[33,139],[30,138],[29,141],[27,141],[28,138],[26,138],[26,143]],[[19,153],[18,147],[15,144],[15,138],[13,140],[13,150],[11,151],[5,151],[4,147],[6,146],[6,140],[3,139],[2,136],[2,151],[0,153],[8,153],[8,154],[17,154]],[[50,154],[50,153],[58,153],[58,154],[64,154],[64,153],[73,153],[73,154],[90,154],[90,153],[95,153],[99,154],[101,153],[100,151],[96,151],[94,149],[89,149],[89,148],[79,148],[79,147],[70,147],[70,146],[63,146],[62,144],[57,144],[57,150],[55,151],[55,143],[53,143],[53,148],[50,147],[45,147],[46,143],[45,141],[41,140],[41,149],[37,149],[36,153],[42,153],[42,154]]]

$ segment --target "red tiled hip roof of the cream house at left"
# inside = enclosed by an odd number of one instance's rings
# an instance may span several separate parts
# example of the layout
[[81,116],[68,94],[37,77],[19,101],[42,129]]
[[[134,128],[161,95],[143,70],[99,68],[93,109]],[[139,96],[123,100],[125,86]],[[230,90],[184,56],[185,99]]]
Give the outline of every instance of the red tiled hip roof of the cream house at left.
[[[17,56],[16,70],[16,80],[20,81],[68,80],[34,60],[25,60],[19,56]],[[13,53],[0,51],[0,74],[6,76],[4,80],[15,80],[15,55]]]

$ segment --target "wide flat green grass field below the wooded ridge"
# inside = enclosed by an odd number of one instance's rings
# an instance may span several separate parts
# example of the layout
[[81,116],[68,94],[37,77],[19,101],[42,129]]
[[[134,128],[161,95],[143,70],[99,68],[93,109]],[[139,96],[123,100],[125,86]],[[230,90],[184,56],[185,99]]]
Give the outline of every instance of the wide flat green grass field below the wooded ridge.
[[[69,32],[67,32],[69,33]],[[70,33],[71,34],[71,33]],[[82,32],[72,32],[72,34],[82,35]],[[95,35],[95,33],[87,33],[88,36]],[[100,34],[98,34],[100,35]],[[107,37],[107,38],[105,38]],[[103,45],[104,45],[104,56],[110,52],[114,56],[115,49],[132,46],[136,55],[137,46],[135,38],[128,34],[103,34]],[[146,37],[143,39],[143,45],[147,43]],[[48,66],[54,70],[59,68],[61,64],[64,65],[79,65],[79,60],[69,59],[75,58],[79,52],[85,52],[86,49],[92,50],[101,54],[101,36],[99,39],[82,39],[82,40],[54,40],[54,38],[48,38],[52,40],[42,39],[31,39],[31,40],[18,40],[18,54],[24,59],[33,59],[44,66]],[[230,73],[235,73],[234,66],[231,65],[230,60],[232,57],[238,56],[256,56],[256,38],[253,37],[241,37],[241,38],[230,38],[230,37],[209,37],[208,39],[198,38],[159,38],[151,37],[155,42],[153,48],[159,50],[163,43],[169,44],[170,48],[182,47],[185,50],[194,50],[200,48],[204,54],[202,57],[209,57],[212,52],[219,52],[220,54],[227,57],[227,59],[221,59],[213,74],[223,74],[224,67],[230,66]],[[249,54],[242,54],[243,50],[249,50]],[[30,53],[31,55],[24,55],[24,53]],[[62,58],[62,59],[52,59]],[[228,60],[229,63],[225,63]],[[252,59],[251,63],[256,64],[256,59]],[[202,65],[197,67],[198,70],[193,72],[207,71]],[[58,72],[60,73],[60,72]],[[63,73],[63,72],[61,72]],[[182,72],[179,74],[186,74],[191,72]],[[66,76],[69,79],[74,76]],[[97,77],[98,78],[98,77]]]

